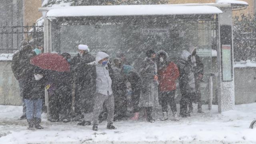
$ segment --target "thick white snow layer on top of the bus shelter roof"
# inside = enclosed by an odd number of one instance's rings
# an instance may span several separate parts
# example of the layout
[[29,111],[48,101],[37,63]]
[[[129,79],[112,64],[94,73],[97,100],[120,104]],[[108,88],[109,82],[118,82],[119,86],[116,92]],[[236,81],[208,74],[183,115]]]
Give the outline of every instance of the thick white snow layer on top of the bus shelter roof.
[[118,6],[69,6],[58,7],[47,12],[46,17],[73,16],[143,16],[143,15],[182,15],[182,14],[219,14],[215,6],[180,5],[118,5]]

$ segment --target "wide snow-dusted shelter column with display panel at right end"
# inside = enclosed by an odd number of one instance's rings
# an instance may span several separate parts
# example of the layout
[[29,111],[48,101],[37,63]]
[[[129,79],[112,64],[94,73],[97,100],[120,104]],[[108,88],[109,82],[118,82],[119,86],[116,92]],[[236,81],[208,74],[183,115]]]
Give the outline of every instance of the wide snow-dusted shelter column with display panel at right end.
[[232,9],[221,8],[218,24],[218,111],[232,110],[235,105],[233,68],[233,19]]

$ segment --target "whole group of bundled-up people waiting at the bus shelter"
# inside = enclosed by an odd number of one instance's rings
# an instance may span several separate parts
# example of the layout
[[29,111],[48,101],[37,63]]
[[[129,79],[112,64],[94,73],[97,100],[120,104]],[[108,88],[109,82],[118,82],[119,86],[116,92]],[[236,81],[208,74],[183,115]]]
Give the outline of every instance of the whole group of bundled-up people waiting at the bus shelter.
[[174,120],[178,121],[176,80],[179,80],[182,94],[180,116],[190,116],[193,102],[198,103],[198,112],[202,112],[199,84],[204,66],[194,46],[184,50],[176,64],[163,50],[147,50],[139,71],[130,66],[124,54],[110,62],[107,52],[100,51],[94,57],[88,46],[83,44],[78,46],[79,53],[72,59],[68,53],[61,54],[70,63],[70,72],[42,70],[30,64],[30,59],[40,54],[36,51],[23,42],[14,54],[12,64],[24,106],[27,107],[21,119],[27,119],[29,128],[42,128],[39,124],[45,87],[49,95],[51,122],[78,121],[80,125],[89,125],[90,121],[84,120],[83,113],[92,112],[93,130],[98,130],[98,124],[105,119],[108,121],[107,128],[115,129],[114,120],[128,118],[127,82],[132,90],[129,93],[134,112],[131,120],[138,120],[144,109],[147,121],[154,122],[152,111],[160,103],[163,112],[161,120],[168,119],[170,105]]

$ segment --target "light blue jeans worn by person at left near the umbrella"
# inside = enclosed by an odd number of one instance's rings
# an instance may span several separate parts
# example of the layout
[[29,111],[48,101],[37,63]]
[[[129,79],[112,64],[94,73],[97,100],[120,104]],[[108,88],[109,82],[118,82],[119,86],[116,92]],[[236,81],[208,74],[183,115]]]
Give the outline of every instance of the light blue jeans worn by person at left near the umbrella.
[[29,100],[25,99],[27,111],[27,119],[33,119],[33,118],[41,118],[42,114],[42,99],[39,100]]

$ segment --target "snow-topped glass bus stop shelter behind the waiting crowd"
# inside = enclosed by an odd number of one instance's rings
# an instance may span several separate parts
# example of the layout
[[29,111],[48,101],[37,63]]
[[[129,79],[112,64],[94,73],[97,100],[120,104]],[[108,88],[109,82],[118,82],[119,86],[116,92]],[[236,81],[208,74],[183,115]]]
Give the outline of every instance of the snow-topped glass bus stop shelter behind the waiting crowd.
[[70,6],[39,10],[44,16],[45,52],[74,55],[78,44],[87,44],[92,54],[105,50],[114,58],[122,52],[139,70],[150,48],[165,50],[175,62],[189,44],[197,46],[205,72],[202,97],[212,103],[214,96],[219,112],[223,112],[232,110],[235,104],[232,9],[245,6],[222,0],[216,4]]

